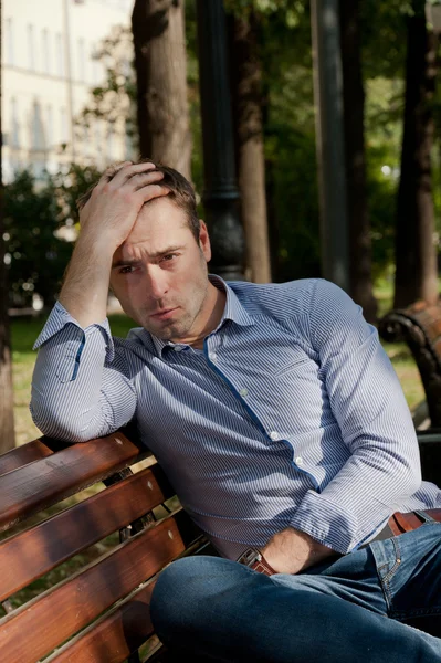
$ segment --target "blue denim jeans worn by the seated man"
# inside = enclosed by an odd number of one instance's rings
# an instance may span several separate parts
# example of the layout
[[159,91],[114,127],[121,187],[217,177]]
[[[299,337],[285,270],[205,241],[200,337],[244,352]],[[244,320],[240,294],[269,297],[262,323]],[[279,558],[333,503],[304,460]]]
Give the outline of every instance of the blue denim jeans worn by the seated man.
[[150,609],[159,638],[182,659],[441,662],[441,524],[296,576],[179,559],[159,576]]

